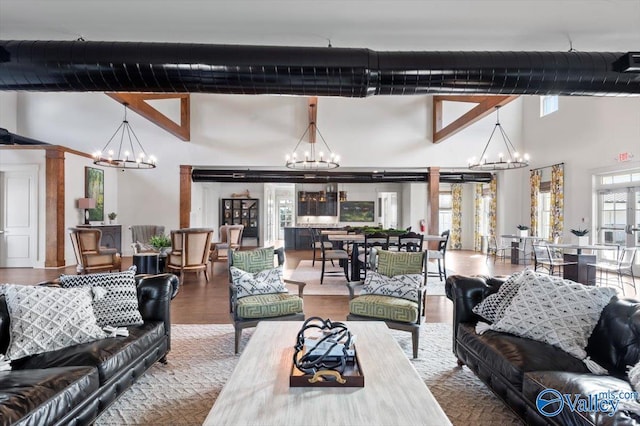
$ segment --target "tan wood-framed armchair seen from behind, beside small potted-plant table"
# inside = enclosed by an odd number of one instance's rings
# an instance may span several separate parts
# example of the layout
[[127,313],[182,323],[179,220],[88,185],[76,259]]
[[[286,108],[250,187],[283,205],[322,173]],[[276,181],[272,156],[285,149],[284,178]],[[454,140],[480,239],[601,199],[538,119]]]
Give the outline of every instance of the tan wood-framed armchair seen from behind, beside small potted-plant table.
[[167,256],[166,268],[180,273],[180,281],[185,272],[204,271],[209,281],[207,267],[213,229],[183,228],[171,231],[171,252]]

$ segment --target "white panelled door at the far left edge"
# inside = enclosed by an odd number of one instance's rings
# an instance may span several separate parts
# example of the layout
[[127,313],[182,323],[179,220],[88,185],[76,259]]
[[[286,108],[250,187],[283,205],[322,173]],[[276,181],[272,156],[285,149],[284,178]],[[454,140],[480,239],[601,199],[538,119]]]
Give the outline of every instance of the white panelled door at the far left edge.
[[37,166],[0,171],[0,267],[35,266],[37,178]]

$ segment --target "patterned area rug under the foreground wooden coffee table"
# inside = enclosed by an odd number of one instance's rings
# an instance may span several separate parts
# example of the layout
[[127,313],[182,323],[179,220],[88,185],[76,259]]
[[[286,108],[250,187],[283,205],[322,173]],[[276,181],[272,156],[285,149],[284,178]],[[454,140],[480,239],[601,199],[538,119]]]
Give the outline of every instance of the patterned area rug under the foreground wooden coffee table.
[[[238,361],[233,326],[174,325],[171,331],[169,363],[152,366],[96,425],[202,424]],[[411,359],[410,333],[392,333],[454,425],[522,424],[470,370],[456,365],[451,325],[425,324],[416,360]],[[251,334],[251,329],[244,331],[241,348]],[[300,424],[309,423],[301,419]]]

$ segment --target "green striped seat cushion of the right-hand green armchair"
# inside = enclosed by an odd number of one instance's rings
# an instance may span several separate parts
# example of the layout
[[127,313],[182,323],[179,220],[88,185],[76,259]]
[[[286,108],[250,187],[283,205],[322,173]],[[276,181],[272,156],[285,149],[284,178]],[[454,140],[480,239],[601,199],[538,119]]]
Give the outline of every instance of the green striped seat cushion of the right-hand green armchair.
[[418,304],[397,297],[365,294],[349,301],[349,312],[354,315],[390,321],[415,323],[418,321]]

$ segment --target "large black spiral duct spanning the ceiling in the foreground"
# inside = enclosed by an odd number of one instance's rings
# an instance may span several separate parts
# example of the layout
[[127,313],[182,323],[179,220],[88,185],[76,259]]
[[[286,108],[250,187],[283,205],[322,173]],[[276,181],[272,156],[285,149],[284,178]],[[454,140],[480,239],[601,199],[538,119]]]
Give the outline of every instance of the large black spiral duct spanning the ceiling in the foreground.
[[638,95],[639,64],[637,52],[376,52],[24,40],[0,41],[0,90]]

